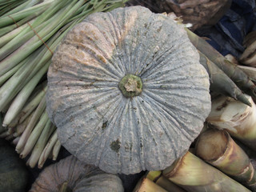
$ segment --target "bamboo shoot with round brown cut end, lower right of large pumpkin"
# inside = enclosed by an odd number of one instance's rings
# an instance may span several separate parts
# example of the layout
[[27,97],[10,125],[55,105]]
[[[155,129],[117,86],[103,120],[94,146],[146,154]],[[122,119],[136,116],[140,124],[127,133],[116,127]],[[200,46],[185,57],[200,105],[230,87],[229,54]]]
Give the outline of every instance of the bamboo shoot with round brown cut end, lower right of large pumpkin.
[[210,129],[200,134],[196,154],[250,190],[256,191],[256,170],[250,158],[225,130]]

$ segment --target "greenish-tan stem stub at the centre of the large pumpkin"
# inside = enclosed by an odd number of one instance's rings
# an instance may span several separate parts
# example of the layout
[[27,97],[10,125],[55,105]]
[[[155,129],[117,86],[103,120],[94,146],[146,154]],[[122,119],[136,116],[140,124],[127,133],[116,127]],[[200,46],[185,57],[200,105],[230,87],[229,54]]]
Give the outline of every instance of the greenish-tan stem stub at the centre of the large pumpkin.
[[142,80],[134,74],[126,74],[119,82],[118,88],[126,98],[132,98],[142,93]]

